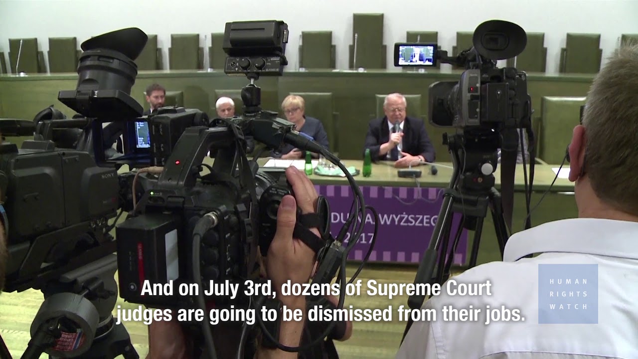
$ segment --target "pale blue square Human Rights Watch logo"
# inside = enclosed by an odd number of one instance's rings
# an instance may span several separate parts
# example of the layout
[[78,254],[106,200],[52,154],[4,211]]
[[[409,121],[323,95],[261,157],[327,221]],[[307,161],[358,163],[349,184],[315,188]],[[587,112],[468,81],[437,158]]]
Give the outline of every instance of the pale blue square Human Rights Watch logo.
[[538,264],[538,323],[597,324],[598,264]]

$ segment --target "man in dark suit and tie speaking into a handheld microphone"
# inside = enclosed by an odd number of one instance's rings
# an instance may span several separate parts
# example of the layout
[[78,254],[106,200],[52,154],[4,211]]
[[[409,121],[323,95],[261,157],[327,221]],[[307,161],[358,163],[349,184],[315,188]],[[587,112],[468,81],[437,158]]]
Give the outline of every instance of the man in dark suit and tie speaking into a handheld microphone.
[[370,121],[366,149],[373,161],[394,161],[394,167],[434,162],[436,153],[422,119],[406,116],[407,102],[400,93],[385,96],[383,118]]

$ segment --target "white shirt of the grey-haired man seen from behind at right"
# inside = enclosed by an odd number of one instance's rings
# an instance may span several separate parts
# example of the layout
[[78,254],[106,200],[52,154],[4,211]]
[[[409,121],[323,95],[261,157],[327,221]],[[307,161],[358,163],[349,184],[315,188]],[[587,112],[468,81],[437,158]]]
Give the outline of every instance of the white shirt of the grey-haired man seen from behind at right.
[[[537,253],[541,254],[524,258]],[[415,322],[396,358],[638,358],[638,222],[593,218],[549,222],[511,236],[503,257],[502,262],[482,264],[452,278],[459,283],[490,280],[490,296],[449,296],[444,284],[440,295],[427,300],[423,308],[435,309],[436,321]],[[566,313],[557,307],[549,311],[545,296],[553,290],[547,291],[549,280],[547,273],[539,273],[540,264],[597,264],[598,282],[590,279],[586,284],[587,298],[582,283],[571,282],[568,291],[556,292],[560,298],[551,299],[572,305],[589,302],[586,310],[595,315],[591,310],[597,309],[597,324],[539,324],[539,311],[554,319]],[[561,278],[554,273],[556,280]],[[591,290],[595,287],[597,296]],[[591,303],[595,298],[597,305]],[[443,321],[442,307],[447,305],[456,309],[504,305],[519,309],[525,320],[488,325],[483,320]],[[585,311],[571,308],[577,318],[586,317]],[[482,319],[484,314],[482,310]]]

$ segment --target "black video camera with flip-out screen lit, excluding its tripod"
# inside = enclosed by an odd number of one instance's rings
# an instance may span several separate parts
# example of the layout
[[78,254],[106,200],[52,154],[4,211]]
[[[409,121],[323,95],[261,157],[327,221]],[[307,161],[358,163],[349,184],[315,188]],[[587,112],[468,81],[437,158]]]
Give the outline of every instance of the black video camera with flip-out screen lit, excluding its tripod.
[[523,52],[527,35],[512,22],[490,20],[473,35],[474,47],[456,57],[438,53],[441,63],[464,66],[458,82],[429,86],[430,123],[468,131],[523,128],[530,125],[527,76],[516,68],[498,68],[496,60]]

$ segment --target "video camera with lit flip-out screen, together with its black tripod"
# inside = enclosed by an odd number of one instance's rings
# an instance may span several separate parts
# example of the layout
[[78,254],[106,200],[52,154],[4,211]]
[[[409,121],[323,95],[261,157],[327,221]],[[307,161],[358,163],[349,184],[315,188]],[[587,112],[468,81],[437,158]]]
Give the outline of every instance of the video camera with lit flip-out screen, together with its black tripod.
[[[450,245],[453,213],[461,213],[461,225],[475,231],[468,263],[476,265],[483,220],[489,208],[494,220],[501,256],[511,229],[514,198],[514,172],[517,148],[523,152],[523,171],[527,185],[526,155],[523,151],[523,129],[528,134],[530,151],[530,188],[533,182],[534,149],[531,128],[531,100],[527,93],[527,76],[516,68],[497,68],[496,61],[516,57],[527,43],[525,31],[518,25],[489,20],[480,24],[473,34],[473,47],[456,57],[445,51],[435,51],[436,60],[463,66],[458,82],[434,82],[429,86],[429,121],[435,126],[453,127],[457,133],[443,135],[454,172],[429,247],[424,253],[415,284],[438,282],[449,277],[453,254],[461,238],[457,229]],[[436,49],[436,44],[431,44]],[[433,63],[436,63],[436,60]],[[519,141],[520,139],[520,141]],[[494,188],[494,171],[501,153],[501,191]],[[526,188],[527,210],[530,193]],[[530,218],[526,223],[530,227]],[[446,258],[446,254],[448,257]],[[437,263],[438,256],[438,263]],[[437,268],[438,266],[438,268]],[[436,268],[436,275],[433,273]],[[419,309],[424,296],[410,296],[408,305]],[[404,335],[412,321],[408,321]]]

